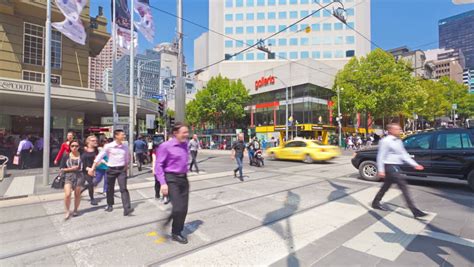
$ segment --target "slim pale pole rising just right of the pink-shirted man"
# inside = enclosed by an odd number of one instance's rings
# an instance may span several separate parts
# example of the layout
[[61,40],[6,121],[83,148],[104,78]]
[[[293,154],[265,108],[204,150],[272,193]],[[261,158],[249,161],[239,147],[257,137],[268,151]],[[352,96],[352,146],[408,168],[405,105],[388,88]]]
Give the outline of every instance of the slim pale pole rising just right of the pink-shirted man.
[[129,177],[133,175],[133,130],[134,130],[134,121],[133,121],[133,105],[134,105],[134,90],[133,83],[135,79],[134,66],[135,66],[135,26],[133,25],[134,16],[134,1],[130,1],[130,89],[129,89],[129,106],[128,106],[128,149],[130,151],[130,162],[128,166],[128,175]]

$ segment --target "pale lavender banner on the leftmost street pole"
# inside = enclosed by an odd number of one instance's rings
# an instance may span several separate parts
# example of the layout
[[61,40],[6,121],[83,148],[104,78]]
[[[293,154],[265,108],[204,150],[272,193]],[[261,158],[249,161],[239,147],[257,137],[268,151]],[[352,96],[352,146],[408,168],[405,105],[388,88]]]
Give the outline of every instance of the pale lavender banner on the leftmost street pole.
[[85,45],[87,34],[80,16],[87,0],[56,0],[55,2],[66,19],[63,22],[51,23],[51,25],[72,41]]

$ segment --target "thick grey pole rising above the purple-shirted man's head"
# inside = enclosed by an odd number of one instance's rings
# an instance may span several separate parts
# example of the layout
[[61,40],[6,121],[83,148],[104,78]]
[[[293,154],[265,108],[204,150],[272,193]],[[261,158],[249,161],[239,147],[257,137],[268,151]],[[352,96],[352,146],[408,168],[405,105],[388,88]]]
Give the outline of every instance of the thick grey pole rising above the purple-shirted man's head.
[[183,6],[182,0],[177,0],[177,28],[178,28],[178,69],[176,73],[176,93],[174,98],[174,108],[176,121],[184,122],[186,108],[186,90],[184,89],[183,80]]

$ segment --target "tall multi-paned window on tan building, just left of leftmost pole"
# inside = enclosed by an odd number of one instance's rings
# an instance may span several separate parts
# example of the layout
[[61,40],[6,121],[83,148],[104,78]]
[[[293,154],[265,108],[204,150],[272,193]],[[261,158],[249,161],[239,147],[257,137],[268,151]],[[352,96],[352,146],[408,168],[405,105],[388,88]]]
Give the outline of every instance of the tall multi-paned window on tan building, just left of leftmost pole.
[[43,65],[43,27],[25,23],[23,33],[23,63]]

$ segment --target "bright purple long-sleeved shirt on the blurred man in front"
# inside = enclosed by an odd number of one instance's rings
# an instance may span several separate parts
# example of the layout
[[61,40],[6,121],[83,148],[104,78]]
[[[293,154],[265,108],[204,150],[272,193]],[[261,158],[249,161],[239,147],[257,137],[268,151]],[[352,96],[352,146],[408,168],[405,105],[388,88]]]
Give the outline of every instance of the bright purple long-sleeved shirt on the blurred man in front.
[[188,142],[176,138],[161,144],[156,153],[155,175],[160,184],[166,184],[165,173],[188,172]]

